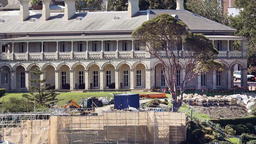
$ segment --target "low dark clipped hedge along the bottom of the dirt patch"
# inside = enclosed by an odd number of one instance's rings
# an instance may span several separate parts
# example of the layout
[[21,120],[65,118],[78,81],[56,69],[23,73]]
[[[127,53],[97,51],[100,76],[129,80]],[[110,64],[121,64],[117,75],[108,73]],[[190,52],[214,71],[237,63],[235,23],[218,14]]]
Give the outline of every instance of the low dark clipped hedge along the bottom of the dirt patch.
[[256,116],[251,116],[247,118],[211,119],[210,121],[216,124],[220,124],[223,127],[225,127],[228,124],[245,125],[247,123],[251,123],[253,126],[256,126]]

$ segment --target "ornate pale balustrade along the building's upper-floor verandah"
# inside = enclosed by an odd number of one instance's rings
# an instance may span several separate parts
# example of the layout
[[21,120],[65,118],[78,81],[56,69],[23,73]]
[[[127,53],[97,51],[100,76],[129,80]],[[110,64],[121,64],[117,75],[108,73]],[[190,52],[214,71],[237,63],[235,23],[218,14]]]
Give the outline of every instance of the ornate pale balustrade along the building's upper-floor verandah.
[[[167,57],[160,51],[161,57]],[[187,51],[184,52],[185,57]],[[178,57],[178,52],[174,51]],[[112,51],[112,52],[39,52],[39,53],[2,53],[0,60],[39,60],[39,59],[113,59],[113,58],[145,58],[150,57],[146,51]],[[179,53],[182,57],[182,52]],[[242,58],[240,51],[219,51],[218,58]]]

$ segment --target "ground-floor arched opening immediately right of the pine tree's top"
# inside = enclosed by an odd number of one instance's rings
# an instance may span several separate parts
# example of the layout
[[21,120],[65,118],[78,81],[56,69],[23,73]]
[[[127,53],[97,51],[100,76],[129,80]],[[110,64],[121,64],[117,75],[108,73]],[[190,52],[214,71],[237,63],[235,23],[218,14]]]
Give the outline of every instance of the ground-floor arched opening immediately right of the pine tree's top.
[[51,85],[52,89],[53,88],[55,89],[55,72],[54,72],[55,68],[54,68],[54,66],[48,65],[43,70],[45,71],[45,76],[44,76],[44,78],[46,79],[45,85],[46,86]]

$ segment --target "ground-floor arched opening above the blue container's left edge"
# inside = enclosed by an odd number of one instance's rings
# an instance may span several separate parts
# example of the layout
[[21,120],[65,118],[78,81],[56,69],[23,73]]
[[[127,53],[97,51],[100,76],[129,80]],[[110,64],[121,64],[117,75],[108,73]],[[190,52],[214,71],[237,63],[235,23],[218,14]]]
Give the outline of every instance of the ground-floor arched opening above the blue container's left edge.
[[115,66],[107,64],[104,70],[104,89],[115,89]]

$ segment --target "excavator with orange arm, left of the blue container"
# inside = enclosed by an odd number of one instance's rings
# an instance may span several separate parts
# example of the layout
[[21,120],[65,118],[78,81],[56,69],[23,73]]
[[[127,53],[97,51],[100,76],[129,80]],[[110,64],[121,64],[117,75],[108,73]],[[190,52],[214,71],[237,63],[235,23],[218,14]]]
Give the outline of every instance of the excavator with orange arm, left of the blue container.
[[95,107],[102,107],[102,101],[98,100],[95,97],[90,97],[87,99],[83,99],[82,103],[78,105],[73,99],[71,99],[69,102],[67,102],[65,105],[61,106],[64,109],[77,109],[78,112],[81,113],[81,115],[97,115],[95,113]]

